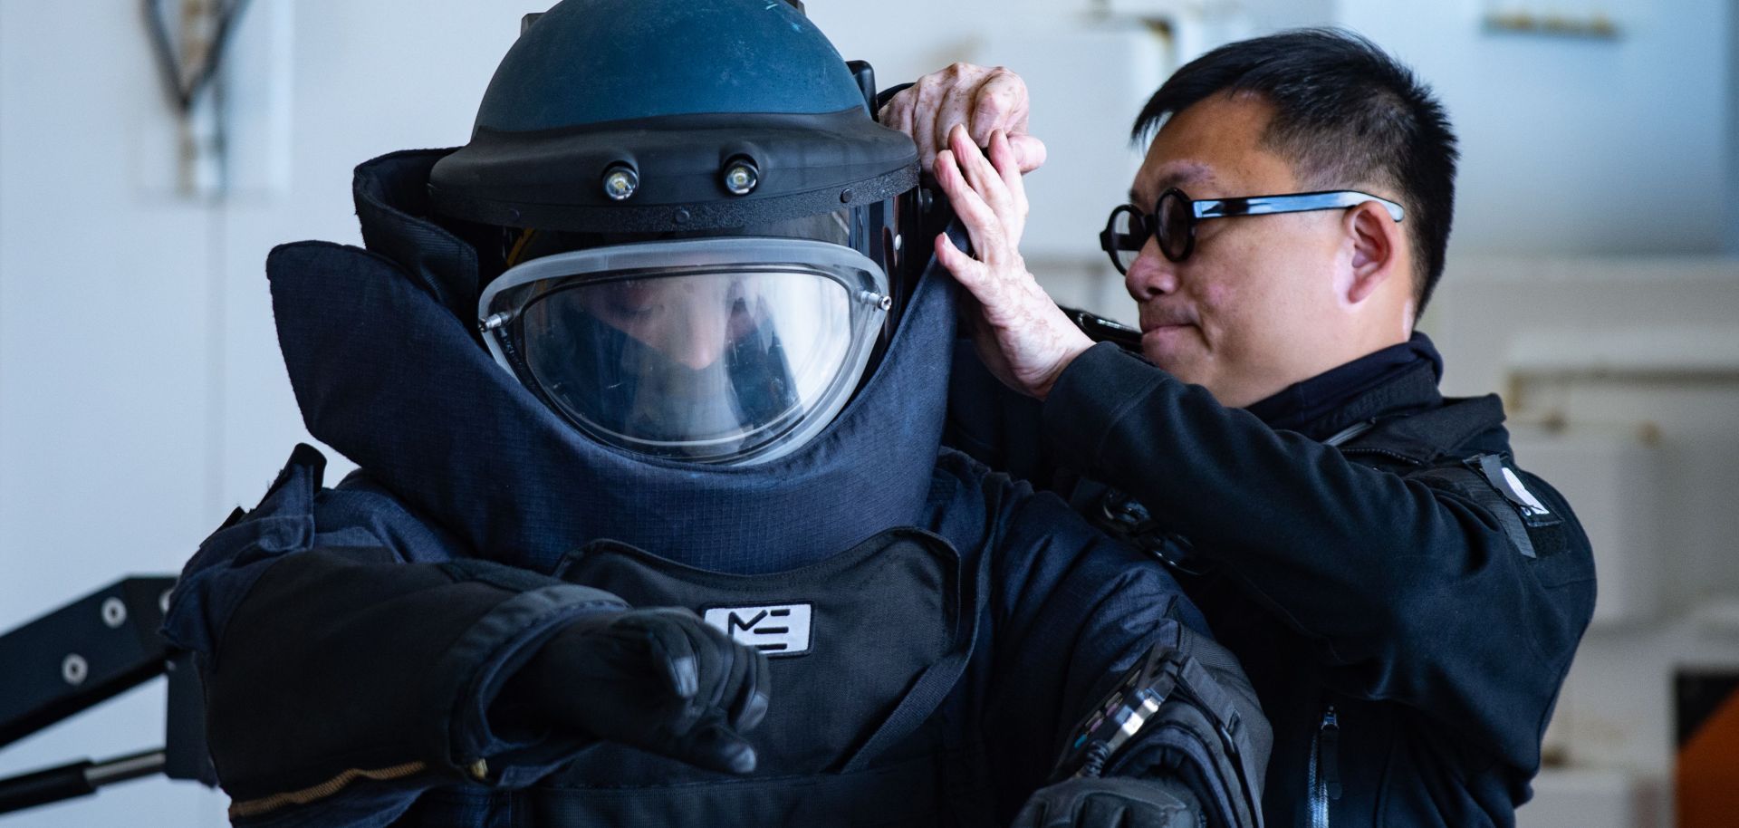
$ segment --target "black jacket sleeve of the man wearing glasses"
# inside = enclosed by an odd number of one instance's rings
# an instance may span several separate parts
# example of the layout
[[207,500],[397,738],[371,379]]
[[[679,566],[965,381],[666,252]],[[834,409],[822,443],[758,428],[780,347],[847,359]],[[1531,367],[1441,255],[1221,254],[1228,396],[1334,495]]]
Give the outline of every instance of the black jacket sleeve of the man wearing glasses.
[[1569,550],[1536,562],[1473,499],[1275,431],[1104,344],[1063,372],[1043,421],[1061,452],[1315,642],[1332,689],[1539,765],[1593,591],[1586,536],[1551,487],[1529,477],[1567,520]]

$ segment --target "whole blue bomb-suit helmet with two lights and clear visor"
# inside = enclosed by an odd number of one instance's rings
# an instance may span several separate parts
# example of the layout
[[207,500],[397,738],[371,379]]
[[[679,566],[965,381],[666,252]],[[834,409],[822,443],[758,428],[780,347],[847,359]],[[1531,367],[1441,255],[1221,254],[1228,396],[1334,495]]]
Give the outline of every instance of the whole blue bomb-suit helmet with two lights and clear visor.
[[490,353],[619,449],[750,464],[803,445],[913,278],[916,150],[873,101],[870,68],[783,0],[529,16],[430,176],[436,214],[503,242]]

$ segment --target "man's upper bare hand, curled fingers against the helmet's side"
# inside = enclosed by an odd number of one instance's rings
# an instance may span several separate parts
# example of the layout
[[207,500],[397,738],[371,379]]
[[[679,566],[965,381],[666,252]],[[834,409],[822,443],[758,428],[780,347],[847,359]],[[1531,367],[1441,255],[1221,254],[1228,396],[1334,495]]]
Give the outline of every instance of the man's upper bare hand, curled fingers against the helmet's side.
[[991,132],[1007,134],[1021,172],[1033,172],[1045,164],[1045,144],[1026,134],[1029,108],[1019,75],[1002,66],[956,63],[896,94],[876,120],[916,141],[923,169],[930,169],[936,153],[948,146],[948,132],[963,125],[974,146],[989,146]]

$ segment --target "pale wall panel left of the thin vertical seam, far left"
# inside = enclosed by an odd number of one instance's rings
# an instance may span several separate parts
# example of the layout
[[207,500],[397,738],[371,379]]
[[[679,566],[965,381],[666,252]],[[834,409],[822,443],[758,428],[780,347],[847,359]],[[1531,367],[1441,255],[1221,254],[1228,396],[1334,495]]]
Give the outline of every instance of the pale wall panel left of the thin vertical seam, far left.
[[[214,214],[129,186],[162,104],[122,9],[0,5],[0,628],[174,571],[210,524]],[[160,745],[160,699],[9,748],[0,774]],[[219,825],[214,805],[139,785],[16,821]]]

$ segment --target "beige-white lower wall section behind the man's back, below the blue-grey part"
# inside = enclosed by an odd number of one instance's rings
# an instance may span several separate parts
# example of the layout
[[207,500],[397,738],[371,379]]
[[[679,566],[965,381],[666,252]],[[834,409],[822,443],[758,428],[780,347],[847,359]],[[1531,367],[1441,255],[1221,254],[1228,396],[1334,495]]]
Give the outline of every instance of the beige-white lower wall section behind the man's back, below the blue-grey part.
[[1720,621],[1739,607],[1736,320],[1739,259],[1694,256],[1452,257],[1428,313],[1445,393],[1502,391],[1518,463],[1595,541],[1596,623],[1549,738],[1563,767],[1523,828],[1669,825],[1673,675],[1739,670]]

